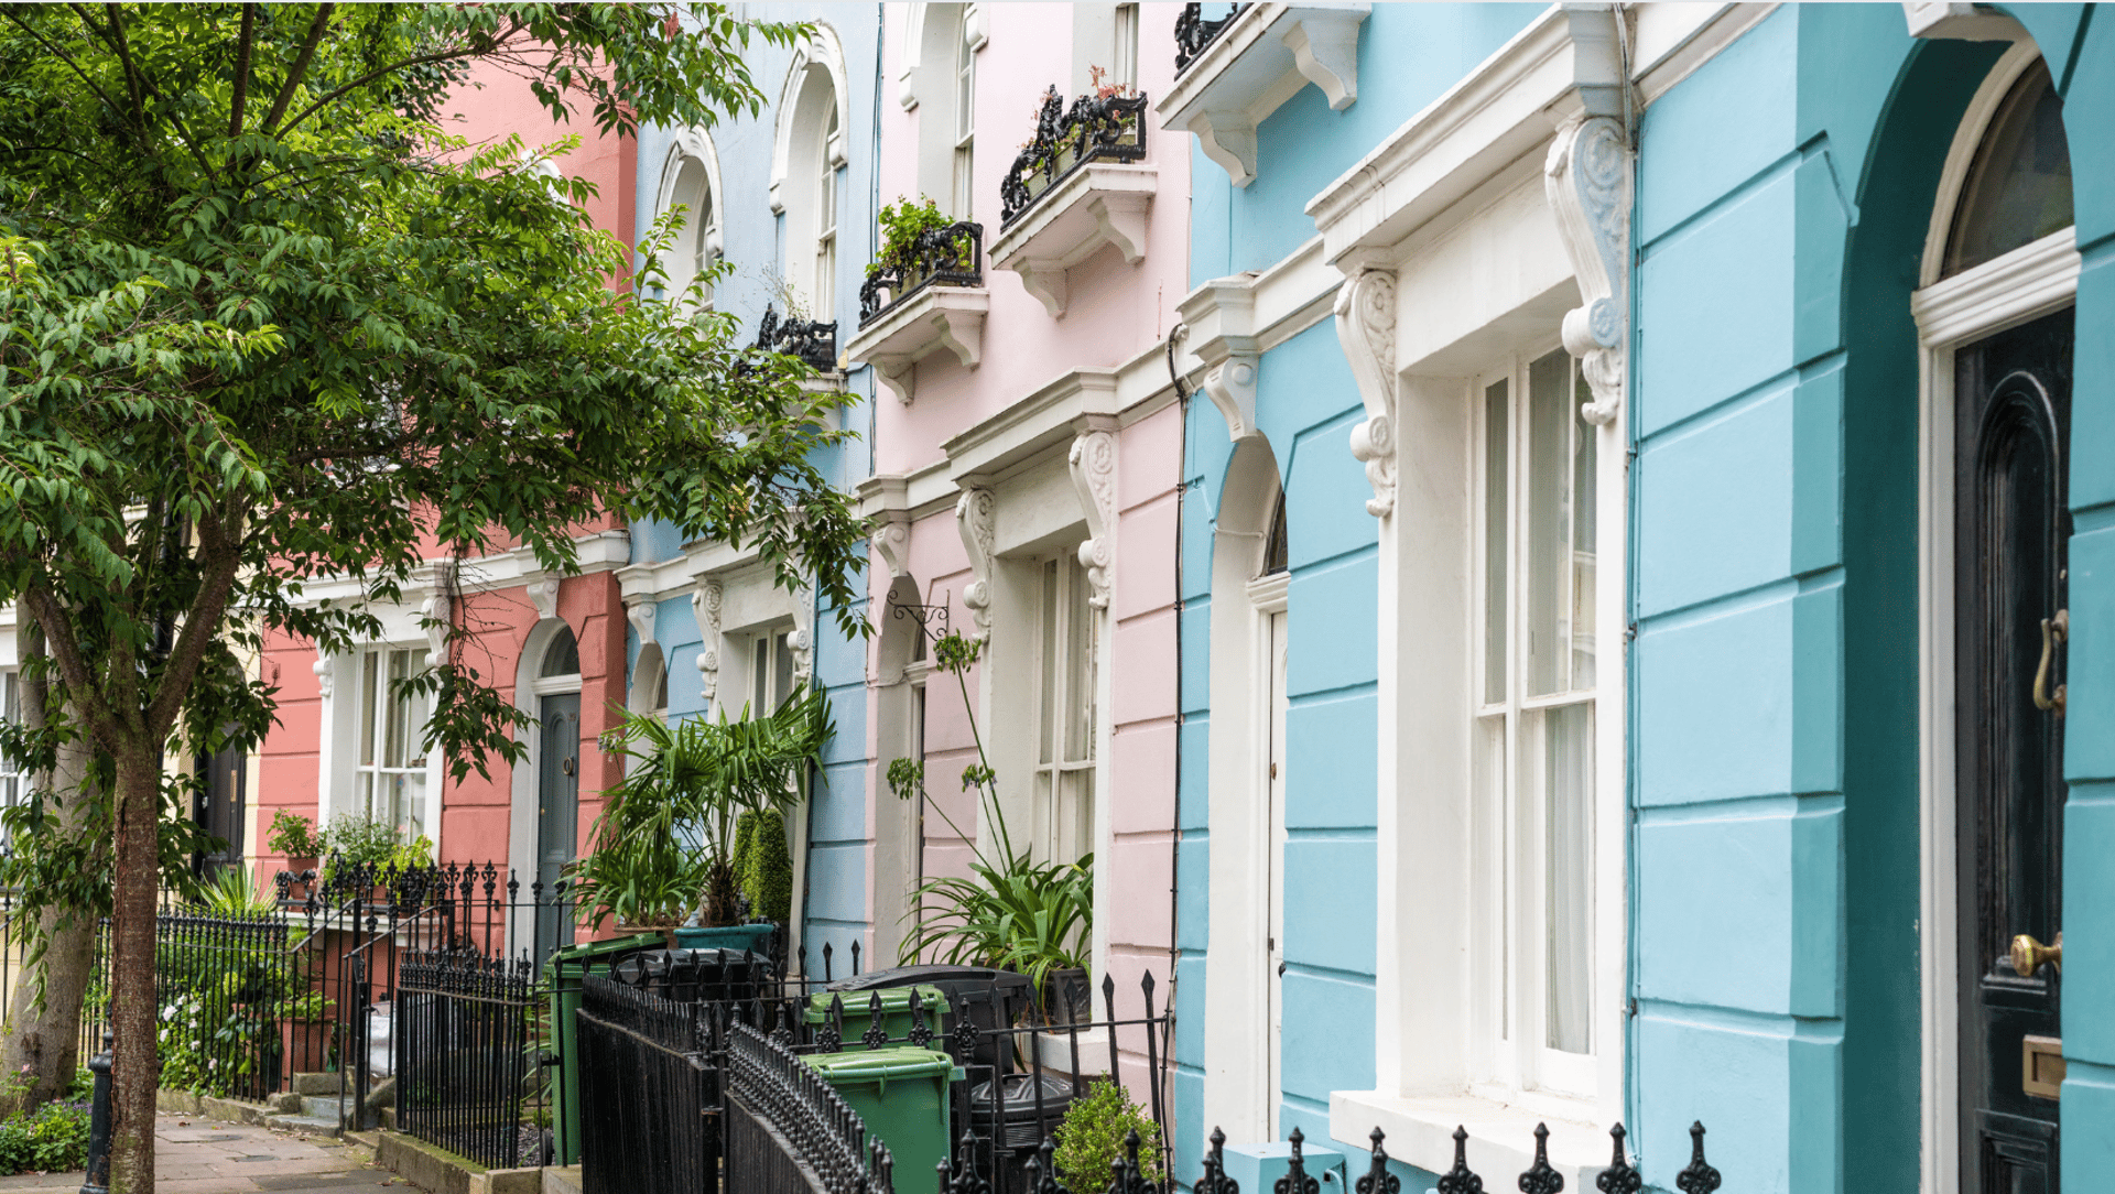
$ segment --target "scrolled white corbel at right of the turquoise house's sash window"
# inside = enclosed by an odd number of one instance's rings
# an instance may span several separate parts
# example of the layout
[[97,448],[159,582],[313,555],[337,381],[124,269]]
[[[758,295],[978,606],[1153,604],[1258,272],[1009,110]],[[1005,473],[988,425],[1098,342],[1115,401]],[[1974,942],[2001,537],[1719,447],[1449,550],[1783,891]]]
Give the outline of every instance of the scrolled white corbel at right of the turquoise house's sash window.
[[1586,116],[1557,131],[1542,182],[1584,306],[1565,313],[1565,351],[1580,359],[1593,402],[1580,416],[1614,423],[1629,378],[1631,146],[1622,120]]

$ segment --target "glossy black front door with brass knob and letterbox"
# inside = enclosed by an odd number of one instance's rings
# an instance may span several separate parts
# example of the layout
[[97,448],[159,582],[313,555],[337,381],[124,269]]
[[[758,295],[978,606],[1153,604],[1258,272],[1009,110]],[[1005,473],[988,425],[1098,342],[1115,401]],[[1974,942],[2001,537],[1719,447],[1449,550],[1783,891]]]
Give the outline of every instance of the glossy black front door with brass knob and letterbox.
[[1954,357],[1963,1194],[2058,1194],[2062,978],[2011,947],[2062,932],[2071,344],[2060,311]]

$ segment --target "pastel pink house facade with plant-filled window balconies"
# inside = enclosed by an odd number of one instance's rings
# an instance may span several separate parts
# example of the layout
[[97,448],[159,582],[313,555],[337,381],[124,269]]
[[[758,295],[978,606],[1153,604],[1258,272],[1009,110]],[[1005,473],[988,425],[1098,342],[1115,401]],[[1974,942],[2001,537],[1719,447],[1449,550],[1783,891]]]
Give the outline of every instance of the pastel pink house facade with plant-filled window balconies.
[[[1165,997],[1174,945],[1182,397],[1167,338],[1191,152],[1151,108],[1174,63],[1138,46],[1172,44],[1178,13],[884,6],[878,203],[931,197],[977,224],[981,277],[876,296],[846,344],[880,383],[859,486],[876,520],[873,955],[895,957],[920,879],[967,873],[962,835],[996,839],[958,782],[975,712],[1015,845],[1093,854],[1091,974],[1115,976],[1125,1014],[1148,970]],[[1070,110],[1098,82],[1146,95],[1117,116],[1136,123],[1125,152],[1009,194],[1047,89]],[[962,687],[918,642],[941,619],[981,645]],[[922,801],[888,797],[897,759],[924,763]]]

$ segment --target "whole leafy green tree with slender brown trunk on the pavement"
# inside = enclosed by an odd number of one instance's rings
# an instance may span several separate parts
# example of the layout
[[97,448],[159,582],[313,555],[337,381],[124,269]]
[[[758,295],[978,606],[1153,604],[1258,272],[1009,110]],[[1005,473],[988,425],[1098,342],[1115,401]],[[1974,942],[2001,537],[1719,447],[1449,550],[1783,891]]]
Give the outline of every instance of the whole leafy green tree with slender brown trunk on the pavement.
[[[850,609],[861,526],[812,463],[835,399],[626,287],[590,190],[525,169],[565,144],[434,123],[491,61],[603,131],[713,125],[761,104],[742,46],[795,34],[725,6],[0,11],[0,600],[66,689],[17,746],[110,759],[114,1190],[154,1179],[161,752],[262,735],[241,651],[372,638],[436,554],[565,571],[609,516],[747,543]],[[362,596],[305,602],[326,575]],[[455,651],[406,685],[457,782],[518,757]]]

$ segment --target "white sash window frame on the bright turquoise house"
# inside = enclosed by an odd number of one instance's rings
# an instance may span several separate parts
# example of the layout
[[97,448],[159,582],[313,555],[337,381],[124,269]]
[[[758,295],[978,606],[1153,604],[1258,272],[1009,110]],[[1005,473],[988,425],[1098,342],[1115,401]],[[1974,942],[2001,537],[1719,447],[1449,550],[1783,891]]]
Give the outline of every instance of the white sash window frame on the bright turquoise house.
[[[1610,689],[1601,683],[1605,672],[1597,670],[1597,683],[1593,687],[1565,687],[1546,695],[1527,695],[1527,655],[1529,655],[1529,583],[1527,583],[1527,499],[1529,499],[1529,402],[1531,385],[1529,370],[1533,363],[1557,357],[1565,366],[1567,380],[1567,402],[1565,408],[1571,410],[1571,429],[1578,435],[1597,435],[1595,427],[1578,416],[1578,406],[1582,402],[1580,363],[1576,357],[1563,351],[1561,344],[1548,344],[1540,353],[1519,353],[1512,355],[1504,368],[1493,370],[1476,378],[1472,395],[1472,425],[1470,435],[1470,475],[1472,501],[1470,501],[1470,615],[1474,619],[1474,674],[1470,678],[1470,759],[1472,759],[1472,860],[1470,875],[1476,881],[1476,890],[1470,896],[1470,917],[1476,955],[1472,959],[1472,995],[1470,995],[1470,1033],[1472,1033],[1472,1055],[1470,1055],[1470,1090],[1493,1101],[1514,1101],[1525,1093],[1550,1093],[1567,1099],[1595,1099],[1599,1090],[1599,1057],[1605,1048],[1614,1044],[1620,1050],[1620,1042],[1607,1042],[1601,1025],[1605,1014],[1597,1014],[1597,1004],[1607,1000],[1607,991],[1601,989],[1599,974],[1601,951],[1622,949],[1624,943],[1601,940],[1599,932],[1599,904],[1601,900],[1622,900],[1620,877],[1612,885],[1605,875],[1601,875],[1599,860],[1599,835],[1601,816],[1605,801],[1622,801],[1620,790],[1603,790],[1599,780],[1599,765],[1595,759],[1599,725],[1605,716],[1620,716],[1618,708],[1607,708]],[[1489,391],[1497,385],[1506,385],[1506,592],[1500,594],[1500,602],[1506,617],[1504,628],[1504,676],[1500,676],[1500,697],[1493,702],[1489,672]],[[1599,444],[1595,444],[1599,448]],[[1599,463],[1599,459],[1595,461]],[[1569,471],[1571,459],[1567,454],[1565,467]],[[1603,499],[1599,475],[1593,482],[1595,501]],[[1569,509],[1569,503],[1567,503]],[[1597,528],[1599,530],[1599,528]],[[1597,539],[1599,541],[1599,539]],[[1588,600],[1597,602],[1599,585],[1597,575],[1586,577]],[[1574,607],[1576,609],[1576,607]],[[1588,611],[1586,628],[1582,634],[1588,642],[1601,647],[1595,640],[1595,617]],[[1574,634],[1580,630],[1574,628]],[[1599,659],[1597,659],[1599,664]],[[1548,1044],[1548,1019],[1550,1019],[1550,995],[1548,995],[1548,949],[1550,949],[1550,926],[1544,915],[1546,909],[1546,888],[1544,877],[1548,873],[1548,824],[1546,809],[1548,799],[1544,786],[1529,786],[1525,780],[1529,776],[1529,763],[1535,754],[1527,721],[1538,714],[1550,714],[1561,708],[1586,708],[1590,723],[1584,735],[1588,763],[1588,807],[1584,822],[1595,831],[1595,839],[1588,841],[1586,858],[1590,871],[1588,892],[1593,907],[1586,909],[1584,921],[1593,932],[1593,940],[1586,949],[1586,985],[1588,985],[1588,1006],[1586,1006],[1586,1031],[1588,1048],[1584,1052],[1563,1052]],[[1491,784],[1489,767],[1493,763],[1487,742],[1491,729],[1497,727],[1500,748],[1497,763],[1500,782]],[[1533,1042],[1533,1044],[1531,1044]]]

